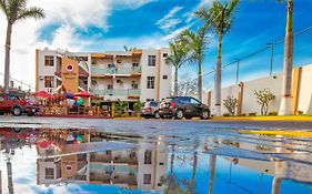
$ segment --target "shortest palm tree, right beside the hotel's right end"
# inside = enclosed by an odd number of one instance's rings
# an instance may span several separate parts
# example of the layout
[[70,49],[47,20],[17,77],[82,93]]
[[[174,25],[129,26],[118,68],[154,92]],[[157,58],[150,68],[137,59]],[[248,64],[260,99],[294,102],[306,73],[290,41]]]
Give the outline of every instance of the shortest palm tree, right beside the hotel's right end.
[[172,64],[174,68],[174,95],[178,95],[178,71],[181,65],[188,61],[188,51],[185,45],[181,41],[174,41],[169,43],[171,54],[167,57],[165,62]]

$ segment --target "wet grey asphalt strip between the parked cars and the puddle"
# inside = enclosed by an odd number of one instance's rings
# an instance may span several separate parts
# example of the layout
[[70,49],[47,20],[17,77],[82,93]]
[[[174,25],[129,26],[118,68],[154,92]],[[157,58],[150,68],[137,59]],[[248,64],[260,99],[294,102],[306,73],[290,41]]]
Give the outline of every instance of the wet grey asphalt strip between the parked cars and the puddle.
[[[192,127],[230,127],[230,129],[259,129],[259,130],[312,130],[312,122],[298,121],[220,121],[220,120],[99,120],[99,119],[61,119],[40,116],[0,116],[0,127],[31,126],[31,127],[105,127],[124,123],[135,123],[142,126],[153,126],[167,123],[172,126],[191,125]],[[129,126],[129,125],[128,125]],[[130,124],[131,126],[131,124]],[[132,125],[133,126],[133,125]],[[137,125],[138,126],[138,125]]]

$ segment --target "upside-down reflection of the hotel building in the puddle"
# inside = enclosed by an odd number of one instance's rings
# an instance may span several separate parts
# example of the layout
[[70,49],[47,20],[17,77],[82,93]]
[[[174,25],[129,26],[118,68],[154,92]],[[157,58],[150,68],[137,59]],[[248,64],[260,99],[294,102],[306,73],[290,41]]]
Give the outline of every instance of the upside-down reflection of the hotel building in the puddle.
[[[107,184],[144,191],[163,190],[161,180],[167,173],[168,152],[159,150],[161,142],[149,149],[133,146],[93,152],[92,146],[83,145],[107,141],[100,137],[103,134],[90,130],[49,130],[41,134],[44,141],[37,142],[39,185]],[[112,143],[117,140],[114,137]],[[80,154],[71,154],[77,152]],[[60,154],[63,156],[58,156]]]

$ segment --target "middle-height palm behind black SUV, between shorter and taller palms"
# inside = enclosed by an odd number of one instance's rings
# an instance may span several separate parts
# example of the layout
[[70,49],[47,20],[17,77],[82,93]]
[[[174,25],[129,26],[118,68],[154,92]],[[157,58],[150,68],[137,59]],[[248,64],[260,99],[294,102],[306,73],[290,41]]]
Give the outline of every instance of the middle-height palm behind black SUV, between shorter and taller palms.
[[184,30],[178,37],[178,40],[190,51],[189,60],[198,63],[198,99],[200,101],[202,101],[202,61],[208,44],[208,28],[209,22],[199,28],[197,33],[191,30]]

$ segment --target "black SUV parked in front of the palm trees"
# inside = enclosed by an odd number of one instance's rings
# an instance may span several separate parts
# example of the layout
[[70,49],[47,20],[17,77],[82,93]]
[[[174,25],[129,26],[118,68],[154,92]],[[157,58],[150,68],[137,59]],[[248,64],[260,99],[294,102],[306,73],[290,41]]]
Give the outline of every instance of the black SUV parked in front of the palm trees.
[[210,109],[194,98],[174,96],[162,100],[159,115],[161,119],[172,119],[174,116],[177,120],[181,120],[182,118],[192,119],[200,116],[202,120],[208,120],[210,118]]

